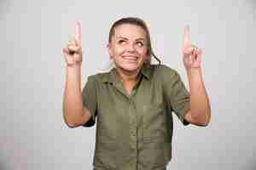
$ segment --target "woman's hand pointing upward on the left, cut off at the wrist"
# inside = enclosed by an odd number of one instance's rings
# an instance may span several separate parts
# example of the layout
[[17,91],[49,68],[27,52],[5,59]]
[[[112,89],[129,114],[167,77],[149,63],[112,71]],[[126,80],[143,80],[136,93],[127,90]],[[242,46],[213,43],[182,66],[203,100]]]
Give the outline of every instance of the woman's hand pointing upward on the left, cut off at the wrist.
[[81,24],[75,24],[75,35],[73,40],[67,42],[67,47],[62,49],[67,66],[80,65],[83,60]]

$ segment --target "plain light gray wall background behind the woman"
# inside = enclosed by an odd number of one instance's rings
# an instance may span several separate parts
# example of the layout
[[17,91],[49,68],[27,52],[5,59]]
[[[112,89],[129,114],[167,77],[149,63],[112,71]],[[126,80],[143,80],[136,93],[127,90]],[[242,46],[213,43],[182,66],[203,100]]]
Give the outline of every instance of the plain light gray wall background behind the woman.
[[256,1],[0,1],[0,169],[92,169],[95,127],[62,120],[65,82],[61,48],[82,23],[86,77],[108,67],[114,20],[148,23],[155,53],[188,85],[180,54],[183,26],[203,49],[211,99],[208,127],[175,117],[168,169],[256,169]]

